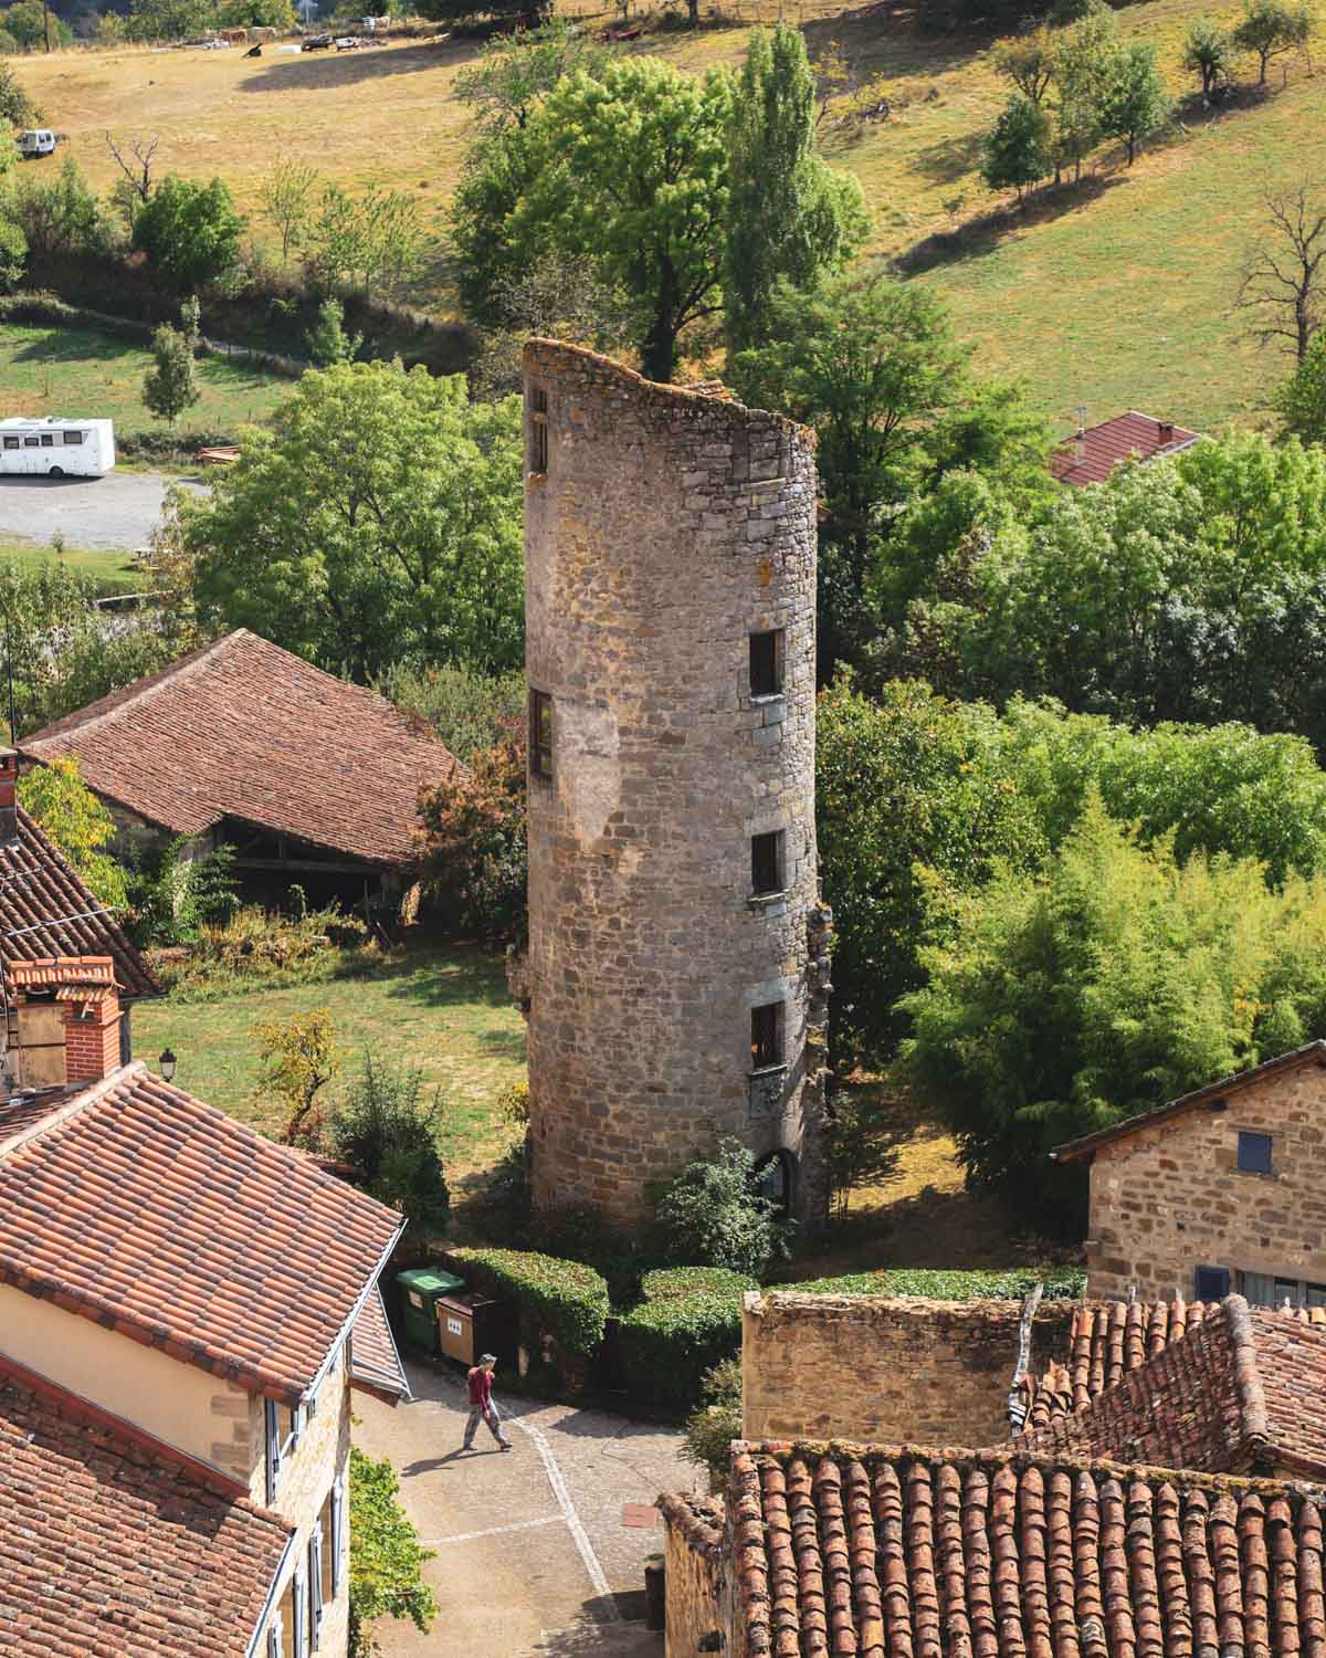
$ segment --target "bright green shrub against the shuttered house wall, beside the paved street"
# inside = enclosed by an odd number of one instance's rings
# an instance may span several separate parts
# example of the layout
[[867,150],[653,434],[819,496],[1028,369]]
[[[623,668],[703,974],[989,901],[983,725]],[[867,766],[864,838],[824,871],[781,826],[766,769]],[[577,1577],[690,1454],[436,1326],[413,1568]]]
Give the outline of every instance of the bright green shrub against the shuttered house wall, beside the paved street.
[[431,1549],[398,1502],[401,1482],[383,1457],[375,1462],[350,1447],[350,1653],[370,1658],[378,1643],[366,1625],[373,1618],[409,1618],[428,1635],[438,1602],[424,1583],[423,1563]]

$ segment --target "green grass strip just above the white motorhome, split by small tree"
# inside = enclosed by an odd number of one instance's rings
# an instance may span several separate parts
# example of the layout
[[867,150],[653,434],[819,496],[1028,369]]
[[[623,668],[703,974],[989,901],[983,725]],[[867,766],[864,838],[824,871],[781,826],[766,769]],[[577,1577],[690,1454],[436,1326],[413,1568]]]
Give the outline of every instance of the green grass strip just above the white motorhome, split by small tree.
[[[113,419],[121,433],[161,431],[161,421],[143,406],[143,375],[151,361],[146,345],[91,328],[7,323],[0,328],[3,413],[96,416]],[[224,356],[201,358],[197,380],[202,396],[184,424],[202,431],[264,419],[292,385]]]

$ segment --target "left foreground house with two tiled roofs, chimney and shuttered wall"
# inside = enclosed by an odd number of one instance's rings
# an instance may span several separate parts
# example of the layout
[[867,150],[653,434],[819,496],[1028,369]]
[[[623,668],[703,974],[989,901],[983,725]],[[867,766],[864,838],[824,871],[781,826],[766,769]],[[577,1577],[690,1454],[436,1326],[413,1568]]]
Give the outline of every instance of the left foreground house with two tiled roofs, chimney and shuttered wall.
[[345,1658],[350,1394],[408,1393],[401,1219],[121,1064],[111,957],[15,978],[66,1054],[0,1099],[0,1650]]

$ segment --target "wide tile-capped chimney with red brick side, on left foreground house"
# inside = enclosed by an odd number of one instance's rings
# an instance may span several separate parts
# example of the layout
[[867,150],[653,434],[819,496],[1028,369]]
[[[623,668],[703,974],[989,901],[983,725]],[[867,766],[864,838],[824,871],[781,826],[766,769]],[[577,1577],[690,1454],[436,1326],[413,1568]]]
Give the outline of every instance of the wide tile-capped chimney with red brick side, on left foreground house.
[[119,1069],[119,990],[108,955],[12,962],[23,1088],[83,1086]]

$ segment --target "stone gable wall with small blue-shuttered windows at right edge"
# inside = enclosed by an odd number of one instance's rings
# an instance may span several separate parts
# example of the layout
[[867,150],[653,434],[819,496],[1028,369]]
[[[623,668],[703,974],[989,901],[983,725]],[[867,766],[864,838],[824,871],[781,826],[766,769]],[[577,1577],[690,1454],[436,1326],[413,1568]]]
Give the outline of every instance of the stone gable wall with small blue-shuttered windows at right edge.
[[[1096,1152],[1087,1293],[1195,1298],[1198,1267],[1326,1285],[1326,1068],[1309,1056]],[[1238,1169],[1240,1131],[1271,1136],[1271,1174]],[[1255,1295],[1250,1298],[1256,1298]]]

